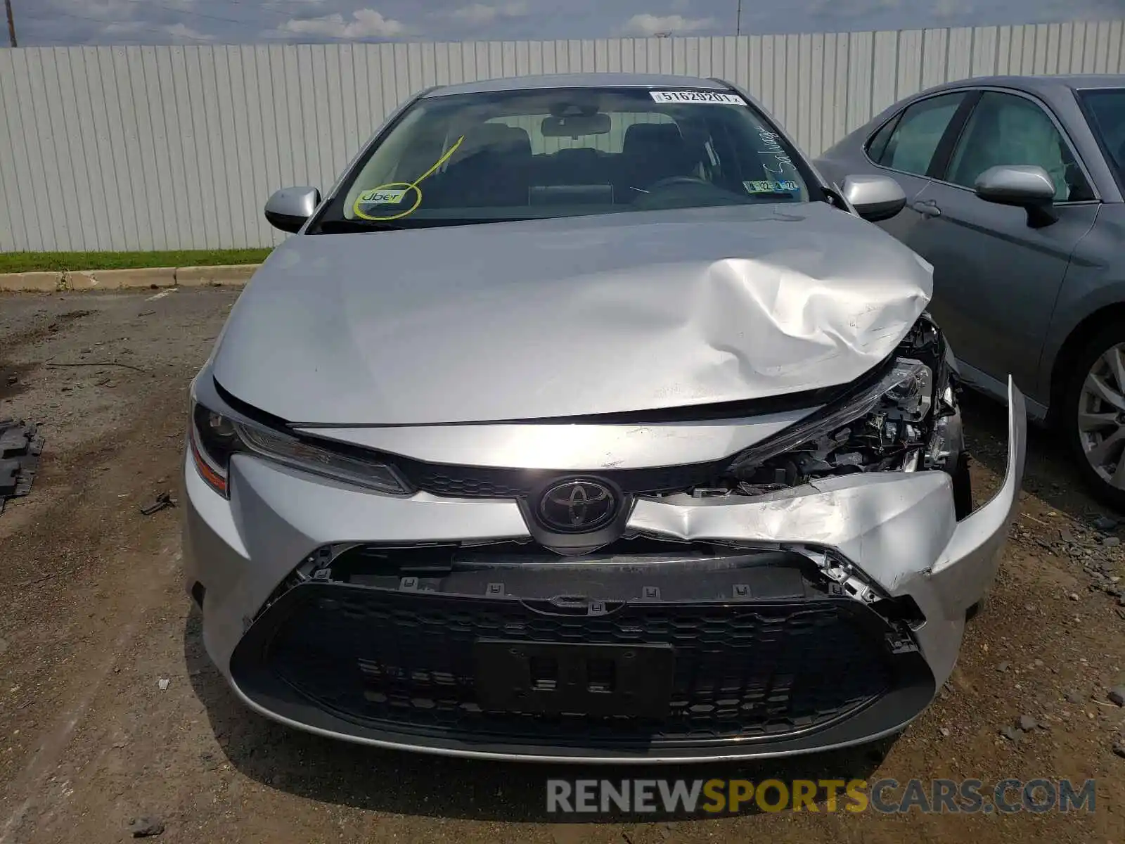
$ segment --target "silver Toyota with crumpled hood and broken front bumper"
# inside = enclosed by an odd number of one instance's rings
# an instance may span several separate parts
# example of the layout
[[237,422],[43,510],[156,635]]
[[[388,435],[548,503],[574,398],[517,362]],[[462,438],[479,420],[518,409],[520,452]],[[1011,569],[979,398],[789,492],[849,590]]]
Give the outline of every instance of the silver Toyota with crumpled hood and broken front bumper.
[[521,760],[894,734],[1017,506],[973,509],[932,267],[742,90],[424,91],[246,287],[191,387],[186,585],[282,724]]

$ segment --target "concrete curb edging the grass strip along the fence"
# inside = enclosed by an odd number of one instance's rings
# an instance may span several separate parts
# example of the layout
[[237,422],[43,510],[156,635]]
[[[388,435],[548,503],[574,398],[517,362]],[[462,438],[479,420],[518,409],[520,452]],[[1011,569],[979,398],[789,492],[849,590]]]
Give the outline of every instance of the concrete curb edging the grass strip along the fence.
[[133,270],[66,270],[64,272],[0,272],[0,291],[127,290],[159,287],[240,287],[260,263],[222,267],[150,267]]

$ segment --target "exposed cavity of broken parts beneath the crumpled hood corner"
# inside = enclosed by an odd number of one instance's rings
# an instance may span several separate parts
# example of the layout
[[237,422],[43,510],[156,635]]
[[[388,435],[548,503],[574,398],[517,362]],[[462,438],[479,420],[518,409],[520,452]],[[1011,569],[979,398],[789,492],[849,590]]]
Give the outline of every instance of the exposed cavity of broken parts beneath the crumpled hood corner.
[[924,314],[896,353],[842,401],[747,449],[694,497],[763,495],[838,475],[939,469],[954,477],[957,515],[972,509],[960,384],[945,336]]

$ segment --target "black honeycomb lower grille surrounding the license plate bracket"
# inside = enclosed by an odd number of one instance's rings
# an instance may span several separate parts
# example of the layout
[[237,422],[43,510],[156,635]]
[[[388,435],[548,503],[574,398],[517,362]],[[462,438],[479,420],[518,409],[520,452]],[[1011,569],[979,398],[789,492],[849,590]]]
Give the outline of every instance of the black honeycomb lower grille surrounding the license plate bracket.
[[[602,616],[544,612],[482,598],[309,583],[259,619],[266,671],[342,719],[416,736],[540,745],[654,746],[768,739],[847,718],[903,682],[891,628],[847,598],[770,603],[627,602]],[[253,638],[253,637],[250,637]],[[667,717],[489,712],[479,704],[474,645],[668,644]]]

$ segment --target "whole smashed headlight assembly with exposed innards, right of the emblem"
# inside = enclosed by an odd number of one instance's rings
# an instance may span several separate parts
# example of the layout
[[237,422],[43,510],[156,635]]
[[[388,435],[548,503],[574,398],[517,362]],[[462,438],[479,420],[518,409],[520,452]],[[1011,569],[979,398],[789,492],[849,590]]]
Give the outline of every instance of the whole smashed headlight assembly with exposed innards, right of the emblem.
[[728,472],[742,481],[792,486],[839,470],[891,468],[883,465],[888,456],[893,464],[894,457],[906,459],[907,451],[921,449],[921,423],[933,403],[933,370],[920,360],[897,358],[881,378],[838,405],[742,451]]

